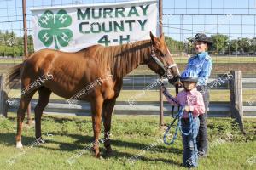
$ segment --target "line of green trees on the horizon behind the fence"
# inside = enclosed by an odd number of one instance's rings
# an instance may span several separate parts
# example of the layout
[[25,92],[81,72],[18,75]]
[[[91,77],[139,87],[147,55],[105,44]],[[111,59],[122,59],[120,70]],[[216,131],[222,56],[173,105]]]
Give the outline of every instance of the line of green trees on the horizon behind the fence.
[[[237,38],[230,39],[223,34],[214,34],[211,36],[212,46],[208,48],[210,54],[242,54],[253,55],[256,54],[256,37],[253,38]],[[194,46],[191,43],[192,37],[187,38],[184,42],[166,37],[166,44],[172,54],[179,54],[185,52],[187,54],[194,54]],[[28,53],[33,53],[32,36],[27,37]],[[23,37],[18,37],[13,31],[0,31],[0,56],[23,56]]]

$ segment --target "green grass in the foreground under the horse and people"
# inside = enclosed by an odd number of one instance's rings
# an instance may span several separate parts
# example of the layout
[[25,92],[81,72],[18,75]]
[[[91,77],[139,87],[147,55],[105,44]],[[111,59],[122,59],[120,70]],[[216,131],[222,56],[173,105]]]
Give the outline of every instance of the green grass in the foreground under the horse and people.
[[[170,122],[169,117],[165,122]],[[73,166],[67,159],[80,153],[85,145],[92,142],[90,117],[79,116],[43,116],[43,136],[53,134],[45,144],[29,148],[34,138],[34,127],[23,128],[25,154],[15,149],[15,114],[8,119],[0,118],[0,167],[1,169],[185,169],[181,167],[183,146],[180,134],[176,143],[166,146],[159,142],[163,131],[158,128],[158,116],[113,116],[112,146],[113,156],[104,154],[101,144],[102,160],[92,156],[86,150],[75,159]],[[249,164],[247,159],[256,156],[256,119],[245,120],[247,134],[243,136],[230,118],[208,119],[210,152],[207,158],[201,159],[198,169],[255,169],[256,164]],[[227,133],[232,138],[227,139]],[[224,139],[219,142],[220,139]],[[159,140],[160,141],[160,140]],[[150,144],[156,144],[145,150]],[[145,150],[134,165],[127,162]],[[13,165],[6,161],[17,156]]]

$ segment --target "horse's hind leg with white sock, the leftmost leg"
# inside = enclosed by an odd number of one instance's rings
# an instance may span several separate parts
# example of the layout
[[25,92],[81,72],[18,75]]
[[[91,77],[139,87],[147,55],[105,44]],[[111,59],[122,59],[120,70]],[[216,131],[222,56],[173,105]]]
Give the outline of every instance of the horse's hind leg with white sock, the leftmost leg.
[[20,98],[20,105],[17,111],[17,135],[16,135],[16,147],[22,148],[21,143],[21,130],[22,130],[22,122],[24,121],[25,112],[27,109],[27,105],[32,99],[32,96],[36,93],[36,90],[21,96]]

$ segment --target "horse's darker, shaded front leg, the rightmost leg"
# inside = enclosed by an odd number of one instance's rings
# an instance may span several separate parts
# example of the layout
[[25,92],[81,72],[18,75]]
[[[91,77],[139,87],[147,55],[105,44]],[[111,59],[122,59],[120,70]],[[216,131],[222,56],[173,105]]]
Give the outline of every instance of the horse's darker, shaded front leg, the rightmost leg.
[[116,99],[106,100],[103,104],[103,117],[104,117],[104,146],[107,149],[107,155],[111,155],[113,150],[110,145],[110,128],[113,108]]

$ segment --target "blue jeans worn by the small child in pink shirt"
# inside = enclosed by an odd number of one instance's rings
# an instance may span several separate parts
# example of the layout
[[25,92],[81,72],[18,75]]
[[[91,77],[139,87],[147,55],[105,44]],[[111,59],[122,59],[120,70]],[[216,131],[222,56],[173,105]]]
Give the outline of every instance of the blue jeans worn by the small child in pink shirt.
[[[183,133],[189,133],[190,123],[189,118],[181,119],[181,126]],[[198,165],[198,150],[196,144],[196,136],[199,128],[199,118],[193,118],[193,129],[192,133],[188,136],[182,134],[183,136],[183,166],[185,167],[197,167]]]

